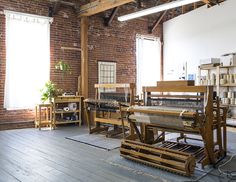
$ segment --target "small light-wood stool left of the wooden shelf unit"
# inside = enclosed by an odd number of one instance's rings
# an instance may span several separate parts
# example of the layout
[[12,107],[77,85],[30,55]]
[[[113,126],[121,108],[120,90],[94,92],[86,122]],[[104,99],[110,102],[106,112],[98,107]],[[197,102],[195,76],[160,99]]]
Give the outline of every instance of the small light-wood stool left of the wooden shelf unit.
[[35,128],[41,130],[42,126],[54,128],[52,120],[52,104],[38,104],[35,106]]

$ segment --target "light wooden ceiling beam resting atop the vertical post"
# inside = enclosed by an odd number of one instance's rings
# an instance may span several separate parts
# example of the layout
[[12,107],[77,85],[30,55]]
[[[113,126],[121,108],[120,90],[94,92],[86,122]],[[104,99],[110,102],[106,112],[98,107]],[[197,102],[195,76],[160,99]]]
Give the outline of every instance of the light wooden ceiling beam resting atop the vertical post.
[[97,13],[130,3],[135,0],[96,0],[94,2],[83,5],[79,9],[79,16],[91,16]]

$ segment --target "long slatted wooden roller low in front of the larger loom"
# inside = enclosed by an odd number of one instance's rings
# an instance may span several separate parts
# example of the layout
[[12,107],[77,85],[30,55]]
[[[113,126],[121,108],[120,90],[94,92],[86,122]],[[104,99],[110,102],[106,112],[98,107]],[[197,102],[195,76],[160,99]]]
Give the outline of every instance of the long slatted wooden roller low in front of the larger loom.
[[196,166],[191,154],[131,140],[122,141],[120,155],[183,176],[191,176]]

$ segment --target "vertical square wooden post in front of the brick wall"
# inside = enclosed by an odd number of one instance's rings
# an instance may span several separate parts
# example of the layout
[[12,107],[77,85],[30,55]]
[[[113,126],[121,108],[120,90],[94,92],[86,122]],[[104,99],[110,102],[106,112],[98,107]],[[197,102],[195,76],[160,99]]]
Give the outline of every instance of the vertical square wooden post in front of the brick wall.
[[81,92],[88,98],[88,17],[81,18]]

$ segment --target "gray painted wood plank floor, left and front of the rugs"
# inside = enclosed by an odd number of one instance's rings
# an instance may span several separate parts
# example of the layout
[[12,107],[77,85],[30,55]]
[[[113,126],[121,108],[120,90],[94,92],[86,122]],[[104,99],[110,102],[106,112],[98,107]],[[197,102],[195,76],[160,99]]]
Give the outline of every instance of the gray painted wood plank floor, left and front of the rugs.
[[[165,181],[105,162],[118,156],[118,149],[108,152],[65,139],[83,133],[87,129],[77,126],[0,131],[0,181]],[[201,181],[209,179],[216,182],[212,176]]]

